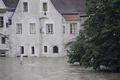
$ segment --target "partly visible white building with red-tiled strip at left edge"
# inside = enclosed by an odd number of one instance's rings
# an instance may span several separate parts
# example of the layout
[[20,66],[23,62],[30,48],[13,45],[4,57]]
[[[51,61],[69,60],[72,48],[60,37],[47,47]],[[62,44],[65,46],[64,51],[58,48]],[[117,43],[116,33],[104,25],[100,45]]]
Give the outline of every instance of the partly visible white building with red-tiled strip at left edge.
[[11,24],[12,14],[17,6],[15,2],[12,2],[14,5],[5,3],[6,0],[0,0],[0,56],[9,54],[9,25]]

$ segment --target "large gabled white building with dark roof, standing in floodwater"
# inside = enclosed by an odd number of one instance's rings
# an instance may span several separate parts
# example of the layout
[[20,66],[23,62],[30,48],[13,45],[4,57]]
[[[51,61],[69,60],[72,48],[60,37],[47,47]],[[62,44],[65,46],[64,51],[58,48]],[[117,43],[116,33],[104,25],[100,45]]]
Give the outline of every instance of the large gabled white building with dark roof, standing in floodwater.
[[[66,55],[85,20],[84,0],[3,0],[8,5],[10,1],[15,1],[12,24],[3,30],[9,35],[9,56]],[[9,15],[5,17],[7,21]]]

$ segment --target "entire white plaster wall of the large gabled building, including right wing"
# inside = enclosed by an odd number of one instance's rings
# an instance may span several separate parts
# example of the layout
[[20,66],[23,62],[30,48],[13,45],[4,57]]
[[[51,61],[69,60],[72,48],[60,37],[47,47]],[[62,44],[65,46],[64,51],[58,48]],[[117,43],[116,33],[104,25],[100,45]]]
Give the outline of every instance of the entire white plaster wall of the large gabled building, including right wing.
[[[28,2],[28,12],[23,12],[23,2]],[[43,2],[48,3],[46,15],[42,11]],[[79,34],[80,21],[66,21],[56,10],[50,0],[20,0],[17,9],[12,17],[13,24],[10,26],[10,55],[20,54],[20,46],[25,48],[25,56],[46,56],[57,57],[66,55],[65,44],[71,39],[75,39]],[[78,33],[69,33],[69,24],[77,22]],[[16,23],[22,23],[22,34],[16,34]],[[36,23],[36,34],[30,34],[29,23]],[[54,34],[46,34],[46,24],[52,23]],[[66,32],[63,33],[63,25],[66,25]],[[40,32],[41,30],[41,32]],[[35,55],[31,54],[31,46],[35,47]],[[48,52],[44,52],[44,46],[48,47]],[[53,53],[53,46],[58,46],[59,53]]]

